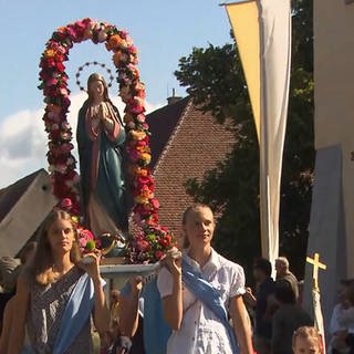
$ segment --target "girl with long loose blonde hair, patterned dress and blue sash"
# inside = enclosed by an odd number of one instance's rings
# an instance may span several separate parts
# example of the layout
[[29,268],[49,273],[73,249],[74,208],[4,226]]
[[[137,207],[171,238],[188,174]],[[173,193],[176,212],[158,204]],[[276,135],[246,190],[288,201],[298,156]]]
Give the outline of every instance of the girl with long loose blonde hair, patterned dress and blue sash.
[[34,353],[93,353],[91,317],[103,333],[110,313],[100,254],[90,256],[93,262],[81,262],[74,221],[67,212],[53,210],[39,232],[33,261],[19,278],[8,353],[21,353],[25,327]]

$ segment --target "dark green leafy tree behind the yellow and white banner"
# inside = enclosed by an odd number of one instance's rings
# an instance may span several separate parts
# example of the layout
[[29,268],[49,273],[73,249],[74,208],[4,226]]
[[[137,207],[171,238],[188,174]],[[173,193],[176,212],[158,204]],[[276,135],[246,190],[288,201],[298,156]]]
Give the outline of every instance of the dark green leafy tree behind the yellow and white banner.
[[[290,258],[298,275],[303,262],[310,220],[313,147],[312,1],[292,1],[292,69],[283,156],[280,253]],[[176,77],[194,103],[232,129],[236,143],[223,163],[202,180],[189,179],[196,201],[222,211],[215,246],[250,269],[260,251],[259,147],[242,66],[233,44],[195,48],[181,58]]]

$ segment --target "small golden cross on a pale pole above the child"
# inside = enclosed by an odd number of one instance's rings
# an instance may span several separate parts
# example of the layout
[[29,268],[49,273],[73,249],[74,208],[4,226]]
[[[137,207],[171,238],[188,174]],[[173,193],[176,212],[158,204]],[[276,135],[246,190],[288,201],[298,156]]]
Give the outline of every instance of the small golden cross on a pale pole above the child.
[[319,269],[325,270],[327,267],[320,262],[320,254],[314,253],[313,258],[306,257],[306,262],[313,266],[312,272],[312,303],[313,303],[313,320],[314,326],[319,331],[322,337],[323,354],[325,354],[325,340],[324,340],[324,325],[321,308],[321,294],[319,285]]

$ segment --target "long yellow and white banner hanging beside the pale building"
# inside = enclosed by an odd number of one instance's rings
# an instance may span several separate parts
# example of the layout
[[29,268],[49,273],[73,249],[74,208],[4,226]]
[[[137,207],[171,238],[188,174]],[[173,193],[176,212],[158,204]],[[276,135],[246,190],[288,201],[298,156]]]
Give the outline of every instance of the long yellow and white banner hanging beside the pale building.
[[290,0],[225,3],[252,105],[260,147],[262,256],[279,253],[279,206],[291,64]]

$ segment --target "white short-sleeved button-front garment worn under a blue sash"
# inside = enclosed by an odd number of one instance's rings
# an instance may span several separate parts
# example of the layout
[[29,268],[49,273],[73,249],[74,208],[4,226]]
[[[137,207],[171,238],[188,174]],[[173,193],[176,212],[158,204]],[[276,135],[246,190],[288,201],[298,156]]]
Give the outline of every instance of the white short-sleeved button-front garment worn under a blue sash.
[[[210,259],[202,269],[187,253],[183,257],[219,290],[227,310],[230,299],[244,293],[244,272],[241,266],[227,260],[215,250],[211,250]],[[157,287],[162,298],[173,293],[173,277],[166,268],[158,274]],[[232,354],[225,325],[184,285],[183,308],[181,325],[169,337],[167,354]]]

